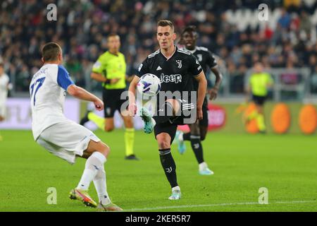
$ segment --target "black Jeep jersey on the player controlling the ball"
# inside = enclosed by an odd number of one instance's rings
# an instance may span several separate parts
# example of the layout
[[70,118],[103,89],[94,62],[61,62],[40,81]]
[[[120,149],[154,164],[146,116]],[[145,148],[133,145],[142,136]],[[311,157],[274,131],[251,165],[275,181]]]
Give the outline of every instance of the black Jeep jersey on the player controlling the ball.
[[[192,91],[194,77],[201,73],[202,68],[197,59],[187,51],[175,47],[174,54],[166,59],[160,49],[149,54],[140,64],[137,76],[152,73],[161,80],[161,91]],[[189,93],[190,95],[190,93]]]

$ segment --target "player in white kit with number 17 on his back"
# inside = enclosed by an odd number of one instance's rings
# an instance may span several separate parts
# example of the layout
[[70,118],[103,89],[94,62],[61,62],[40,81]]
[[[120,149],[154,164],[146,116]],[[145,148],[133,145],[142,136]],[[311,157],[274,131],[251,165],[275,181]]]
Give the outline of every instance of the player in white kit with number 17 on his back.
[[[70,164],[76,157],[86,158],[85,170],[77,187],[70,191],[70,198],[82,201],[86,206],[102,211],[118,211],[106,191],[104,162],[110,151],[108,145],[84,126],[70,121],[63,114],[66,93],[80,100],[94,102],[97,110],[104,109],[104,102],[78,87],[71,81],[63,63],[61,47],[49,42],[42,49],[44,65],[32,77],[30,97],[32,108],[32,133],[39,145]],[[94,182],[99,203],[88,194],[89,184]]]

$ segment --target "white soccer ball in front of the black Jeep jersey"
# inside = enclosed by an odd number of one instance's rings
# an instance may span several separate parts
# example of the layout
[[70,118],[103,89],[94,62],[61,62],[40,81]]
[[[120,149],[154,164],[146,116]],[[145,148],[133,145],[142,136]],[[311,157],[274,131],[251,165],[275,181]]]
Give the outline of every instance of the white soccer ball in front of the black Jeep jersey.
[[144,74],[137,83],[137,91],[146,97],[157,95],[160,90],[161,81],[159,77],[151,73]]

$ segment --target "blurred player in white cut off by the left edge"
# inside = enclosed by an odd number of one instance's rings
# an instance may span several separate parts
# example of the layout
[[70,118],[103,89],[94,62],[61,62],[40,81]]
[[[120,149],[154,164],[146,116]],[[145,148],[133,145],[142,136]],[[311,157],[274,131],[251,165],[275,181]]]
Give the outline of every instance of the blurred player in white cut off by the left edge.
[[[4,73],[4,64],[0,62],[0,122],[6,119],[6,99],[8,97],[9,85],[8,75]],[[1,140],[2,136],[0,133]]]

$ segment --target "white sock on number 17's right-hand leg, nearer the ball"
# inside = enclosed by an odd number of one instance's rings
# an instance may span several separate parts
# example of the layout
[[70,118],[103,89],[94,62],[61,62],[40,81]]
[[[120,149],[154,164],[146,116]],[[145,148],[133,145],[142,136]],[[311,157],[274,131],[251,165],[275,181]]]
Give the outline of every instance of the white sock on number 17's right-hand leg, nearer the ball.
[[107,205],[108,203],[111,203],[107,192],[106,172],[104,171],[104,166],[98,170],[96,177],[94,177],[94,187],[96,188],[99,202],[101,202],[101,204]]

